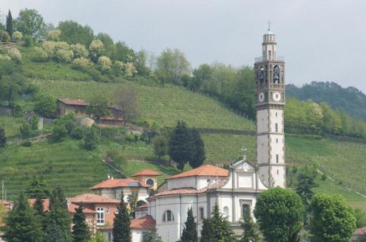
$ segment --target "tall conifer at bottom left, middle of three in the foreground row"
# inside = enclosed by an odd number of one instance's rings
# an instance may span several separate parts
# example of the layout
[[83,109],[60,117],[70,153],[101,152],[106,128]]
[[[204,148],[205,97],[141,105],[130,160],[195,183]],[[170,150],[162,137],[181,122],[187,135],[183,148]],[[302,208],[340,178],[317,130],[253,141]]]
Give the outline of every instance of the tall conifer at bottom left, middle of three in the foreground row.
[[[51,194],[49,212],[46,215],[46,230],[57,231],[59,242],[72,241],[70,213],[63,189],[56,187]],[[51,235],[49,236],[51,239]],[[51,242],[51,241],[50,241]]]

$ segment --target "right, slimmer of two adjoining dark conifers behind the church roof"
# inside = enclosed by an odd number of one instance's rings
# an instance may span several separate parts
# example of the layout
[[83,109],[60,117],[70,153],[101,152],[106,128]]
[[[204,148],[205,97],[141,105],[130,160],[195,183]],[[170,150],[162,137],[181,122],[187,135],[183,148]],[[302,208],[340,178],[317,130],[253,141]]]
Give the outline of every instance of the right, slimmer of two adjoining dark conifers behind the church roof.
[[192,168],[197,168],[201,166],[206,159],[206,154],[204,152],[204,142],[200,133],[195,128],[190,130],[190,137],[192,139],[193,150],[189,163]]

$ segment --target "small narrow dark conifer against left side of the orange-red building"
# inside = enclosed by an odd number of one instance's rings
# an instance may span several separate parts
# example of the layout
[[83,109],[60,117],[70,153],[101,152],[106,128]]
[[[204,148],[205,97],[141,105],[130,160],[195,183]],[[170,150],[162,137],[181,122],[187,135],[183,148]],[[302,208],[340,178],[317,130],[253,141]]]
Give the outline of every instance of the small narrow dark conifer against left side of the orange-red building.
[[85,221],[85,214],[83,212],[84,206],[80,204],[76,213],[72,218],[72,238],[74,242],[87,242],[90,238],[90,229]]

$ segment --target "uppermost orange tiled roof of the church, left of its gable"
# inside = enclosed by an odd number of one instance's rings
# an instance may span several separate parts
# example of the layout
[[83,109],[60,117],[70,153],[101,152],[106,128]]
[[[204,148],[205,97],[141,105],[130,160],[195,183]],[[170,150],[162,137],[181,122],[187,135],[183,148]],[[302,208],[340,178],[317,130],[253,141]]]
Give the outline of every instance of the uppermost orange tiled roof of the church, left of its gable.
[[174,179],[181,177],[192,177],[192,176],[218,176],[218,177],[227,177],[229,175],[229,171],[224,168],[219,168],[217,166],[212,165],[203,165],[198,168],[188,170],[184,173],[179,173],[177,175],[172,175],[166,179]]

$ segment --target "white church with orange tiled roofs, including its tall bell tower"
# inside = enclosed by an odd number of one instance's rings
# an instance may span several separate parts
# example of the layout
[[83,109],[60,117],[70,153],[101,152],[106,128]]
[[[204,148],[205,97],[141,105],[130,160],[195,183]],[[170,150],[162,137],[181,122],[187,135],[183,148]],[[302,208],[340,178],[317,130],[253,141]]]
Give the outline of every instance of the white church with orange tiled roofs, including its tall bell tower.
[[[167,177],[148,204],[138,208],[136,221],[154,221],[164,242],[181,238],[187,211],[192,208],[200,236],[202,220],[218,207],[238,234],[244,213],[254,210],[261,191],[285,187],[285,62],[277,58],[275,34],[263,35],[262,55],[254,63],[256,84],[256,162],[243,159],[229,169],[204,165]],[[139,242],[148,227],[133,231]]]

